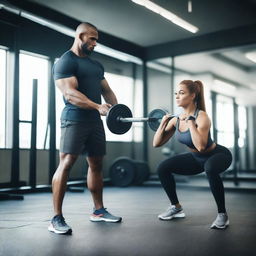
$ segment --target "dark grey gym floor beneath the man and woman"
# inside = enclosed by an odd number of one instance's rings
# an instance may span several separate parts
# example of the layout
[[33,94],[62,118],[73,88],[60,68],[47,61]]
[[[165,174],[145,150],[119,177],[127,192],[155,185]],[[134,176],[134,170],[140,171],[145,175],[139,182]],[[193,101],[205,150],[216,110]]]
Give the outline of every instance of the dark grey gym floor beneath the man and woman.
[[160,186],[105,187],[105,207],[121,223],[92,223],[90,193],[67,192],[64,217],[70,236],[47,231],[51,193],[0,201],[0,255],[255,255],[255,193],[226,191],[230,226],[212,230],[216,207],[208,188],[177,188],[185,219],[160,221],[168,200]]

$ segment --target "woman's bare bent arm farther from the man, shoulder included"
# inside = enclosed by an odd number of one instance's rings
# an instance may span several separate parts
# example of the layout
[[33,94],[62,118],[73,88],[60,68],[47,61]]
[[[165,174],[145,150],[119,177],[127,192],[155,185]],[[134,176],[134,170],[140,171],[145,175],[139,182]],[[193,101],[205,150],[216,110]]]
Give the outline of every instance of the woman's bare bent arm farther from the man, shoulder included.
[[[211,121],[204,111],[200,111],[196,123],[194,120],[188,120],[191,138],[195,148],[203,152],[207,146]],[[197,124],[197,126],[196,126]]]

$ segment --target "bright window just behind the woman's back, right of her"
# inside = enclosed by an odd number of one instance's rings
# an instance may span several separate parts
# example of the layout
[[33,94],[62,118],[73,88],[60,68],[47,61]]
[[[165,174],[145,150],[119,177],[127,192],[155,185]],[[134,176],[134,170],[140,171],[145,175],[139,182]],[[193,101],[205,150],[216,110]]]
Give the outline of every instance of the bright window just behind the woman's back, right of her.
[[217,141],[227,148],[234,147],[233,99],[217,95]]

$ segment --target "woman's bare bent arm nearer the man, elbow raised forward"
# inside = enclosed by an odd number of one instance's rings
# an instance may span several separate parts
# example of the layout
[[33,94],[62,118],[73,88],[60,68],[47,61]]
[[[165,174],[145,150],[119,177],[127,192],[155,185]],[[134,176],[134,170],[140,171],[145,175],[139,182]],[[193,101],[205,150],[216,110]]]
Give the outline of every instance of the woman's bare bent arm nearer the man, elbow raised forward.
[[162,121],[154,135],[153,138],[153,147],[160,147],[165,144],[174,134],[175,132],[175,124],[177,122],[177,118],[170,119],[170,115],[165,115],[162,118]]

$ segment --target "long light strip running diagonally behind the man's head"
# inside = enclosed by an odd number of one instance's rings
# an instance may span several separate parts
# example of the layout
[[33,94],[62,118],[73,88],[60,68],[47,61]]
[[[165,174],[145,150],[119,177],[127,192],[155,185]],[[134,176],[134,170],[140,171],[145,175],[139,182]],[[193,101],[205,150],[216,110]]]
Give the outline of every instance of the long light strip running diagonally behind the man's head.
[[[55,22],[49,22],[48,20],[43,19],[43,18],[38,17],[38,16],[35,16],[31,13],[28,13],[28,12],[25,12],[25,11],[20,11],[20,10],[14,8],[14,7],[9,7],[9,6],[3,5],[3,4],[0,4],[0,8],[3,8],[5,10],[7,10],[9,12],[12,12],[12,13],[15,13],[17,15],[21,15],[23,18],[29,19],[29,20],[31,20],[33,22],[36,22],[36,23],[38,23],[42,26],[46,26],[48,28],[51,28],[51,29],[53,29],[55,31],[58,31],[62,34],[65,34],[67,36],[75,37],[75,30],[70,29],[68,27],[65,27],[61,24],[58,24],[58,23],[55,23]],[[99,43],[97,43],[97,46],[95,47],[94,51],[98,52],[98,53],[101,53],[101,54],[104,54],[104,55],[107,55],[107,56],[110,56],[110,57],[118,59],[118,60],[125,61],[125,62],[132,62],[132,63],[136,63],[136,64],[139,64],[139,65],[142,64],[142,60],[135,57],[135,56],[117,51],[115,49],[112,49],[110,47],[107,47],[107,46],[99,44]]]

